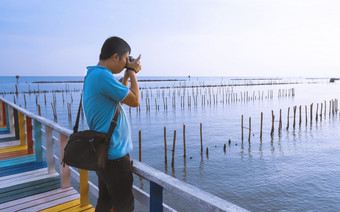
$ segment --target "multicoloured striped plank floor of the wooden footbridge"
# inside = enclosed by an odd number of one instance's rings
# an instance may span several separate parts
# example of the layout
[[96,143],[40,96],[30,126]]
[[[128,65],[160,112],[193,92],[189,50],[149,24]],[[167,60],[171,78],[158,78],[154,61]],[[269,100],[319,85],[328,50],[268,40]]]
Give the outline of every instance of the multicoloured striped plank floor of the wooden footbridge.
[[27,134],[18,139],[0,125],[0,211],[94,211],[90,204],[81,206],[74,188],[61,188],[59,174],[37,160]]

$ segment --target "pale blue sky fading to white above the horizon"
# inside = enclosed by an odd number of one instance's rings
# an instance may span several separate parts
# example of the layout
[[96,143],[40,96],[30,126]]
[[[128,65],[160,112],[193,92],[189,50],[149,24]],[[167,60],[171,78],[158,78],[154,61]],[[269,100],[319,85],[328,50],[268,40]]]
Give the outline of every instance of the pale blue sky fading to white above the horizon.
[[110,36],[140,76],[340,77],[340,1],[0,0],[0,76],[82,76]]

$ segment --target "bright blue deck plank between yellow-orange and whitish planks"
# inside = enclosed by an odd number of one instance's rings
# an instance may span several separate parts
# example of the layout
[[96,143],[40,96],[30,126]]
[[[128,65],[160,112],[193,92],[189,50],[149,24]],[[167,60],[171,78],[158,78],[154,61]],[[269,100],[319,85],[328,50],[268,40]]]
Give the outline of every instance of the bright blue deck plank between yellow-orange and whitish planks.
[[20,165],[0,168],[0,177],[18,174],[26,171],[33,171],[47,167],[46,162],[29,162]]

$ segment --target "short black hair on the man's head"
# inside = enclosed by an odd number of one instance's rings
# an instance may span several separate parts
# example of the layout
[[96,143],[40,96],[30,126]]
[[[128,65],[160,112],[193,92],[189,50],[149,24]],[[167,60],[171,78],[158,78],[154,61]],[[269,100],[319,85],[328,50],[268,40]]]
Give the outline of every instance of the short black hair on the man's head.
[[121,58],[127,52],[129,52],[129,54],[131,53],[131,47],[125,40],[119,37],[110,37],[104,42],[102,46],[99,60],[106,60],[115,53],[118,53],[119,57]]

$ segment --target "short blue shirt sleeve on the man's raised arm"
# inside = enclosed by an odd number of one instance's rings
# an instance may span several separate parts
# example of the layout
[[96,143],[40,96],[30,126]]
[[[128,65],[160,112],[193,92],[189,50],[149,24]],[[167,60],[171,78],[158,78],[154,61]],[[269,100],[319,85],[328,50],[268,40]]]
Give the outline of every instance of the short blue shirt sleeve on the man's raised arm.
[[101,92],[104,96],[111,98],[117,102],[121,102],[129,94],[128,87],[118,82],[112,74],[105,73],[104,77],[101,77]]

